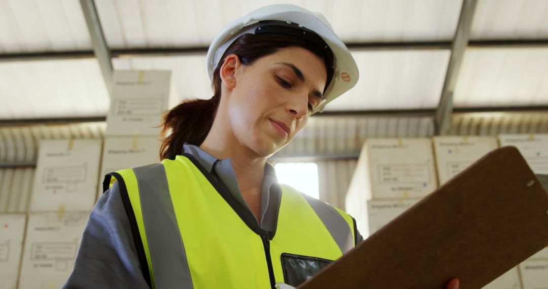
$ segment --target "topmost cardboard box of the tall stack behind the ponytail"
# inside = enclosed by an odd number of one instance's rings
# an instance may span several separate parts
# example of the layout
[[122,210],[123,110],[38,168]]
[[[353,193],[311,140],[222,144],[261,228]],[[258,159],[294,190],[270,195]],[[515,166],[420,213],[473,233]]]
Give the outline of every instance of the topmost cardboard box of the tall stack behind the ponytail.
[[115,71],[107,136],[158,136],[161,115],[178,100],[170,71]]

